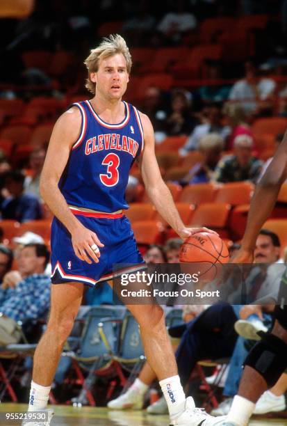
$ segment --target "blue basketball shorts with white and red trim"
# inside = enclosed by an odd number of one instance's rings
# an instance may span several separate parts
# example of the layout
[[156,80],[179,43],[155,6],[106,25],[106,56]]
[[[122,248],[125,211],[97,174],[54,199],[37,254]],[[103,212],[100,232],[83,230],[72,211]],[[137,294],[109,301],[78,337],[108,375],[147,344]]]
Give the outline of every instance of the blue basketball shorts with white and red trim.
[[[126,216],[106,219],[77,214],[76,217],[85,228],[95,232],[104,244],[104,247],[99,247],[99,263],[92,261],[89,265],[79,259],[74,253],[71,235],[65,226],[54,218],[51,225],[52,283],[74,281],[93,287],[100,281],[115,278],[123,272],[136,271],[139,265],[145,264]],[[123,264],[122,269],[119,264]],[[115,271],[113,265],[119,265],[119,270]]]

